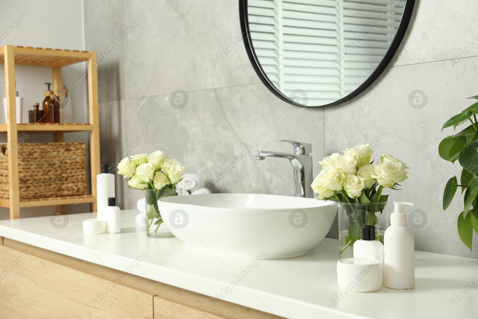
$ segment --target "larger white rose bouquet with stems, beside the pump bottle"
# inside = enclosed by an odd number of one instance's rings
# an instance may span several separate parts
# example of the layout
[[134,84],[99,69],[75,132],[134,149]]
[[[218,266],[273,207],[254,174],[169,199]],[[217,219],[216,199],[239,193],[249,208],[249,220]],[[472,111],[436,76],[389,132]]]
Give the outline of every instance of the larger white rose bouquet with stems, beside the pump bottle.
[[361,238],[362,225],[377,224],[375,214],[382,212],[388,200],[388,195],[382,195],[383,189],[398,189],[399,183],[408,178],[409,168],[388,153],[381,155],[380,163],[373,164],[370,144],[347,148],[343,153],[319,161],[322,171],[311,185],[317,199],[337,199],[347,211],[348,236],[340,243],[340,253]]

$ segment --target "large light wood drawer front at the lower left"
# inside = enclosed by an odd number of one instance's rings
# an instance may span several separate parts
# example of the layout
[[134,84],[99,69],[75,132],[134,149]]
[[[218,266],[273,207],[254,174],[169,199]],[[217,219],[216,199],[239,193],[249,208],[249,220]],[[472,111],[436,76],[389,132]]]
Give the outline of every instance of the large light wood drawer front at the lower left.
[[116,278],[105,280],[0,245],[0,318],[152,319],[153,296]]

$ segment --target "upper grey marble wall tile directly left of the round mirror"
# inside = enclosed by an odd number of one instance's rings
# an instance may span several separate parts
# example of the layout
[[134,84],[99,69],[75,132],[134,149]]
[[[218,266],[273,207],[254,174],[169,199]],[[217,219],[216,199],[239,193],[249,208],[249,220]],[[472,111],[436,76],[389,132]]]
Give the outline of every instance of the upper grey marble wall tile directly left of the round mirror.
[[147,15],[121,44],[125,98],[260,82],[241,42],[236,1],[154,2],[123,1],[125,29]]

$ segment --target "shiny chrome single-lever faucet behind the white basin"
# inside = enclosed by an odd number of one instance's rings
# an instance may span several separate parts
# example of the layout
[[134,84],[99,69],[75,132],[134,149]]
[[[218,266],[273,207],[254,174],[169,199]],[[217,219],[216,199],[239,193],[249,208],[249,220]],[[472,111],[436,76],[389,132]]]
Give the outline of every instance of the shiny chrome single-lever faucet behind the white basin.
[[289,141],[284,139],[274,139],[274,141],[291,143],[294,146],[294,154],[271,152],[271,151],[252,151],[251,154],[258,160],[265,160],[267,156],[287,158],[292,164],[294,170],[294,191],[296,197],[313,198],[314,191],[312,184],[312,144]]

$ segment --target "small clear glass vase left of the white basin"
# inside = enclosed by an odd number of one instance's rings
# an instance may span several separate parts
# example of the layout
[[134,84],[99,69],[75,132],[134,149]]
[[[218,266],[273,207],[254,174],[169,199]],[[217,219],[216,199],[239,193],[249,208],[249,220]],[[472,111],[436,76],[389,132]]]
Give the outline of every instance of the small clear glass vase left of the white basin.
[[175,237],[169,231],[161,218],[161,212],[158,209],[158,199],[169,196],[178,196],[180,188],[174,189],[146,189],[146,235],[153,238],[171,238]]

